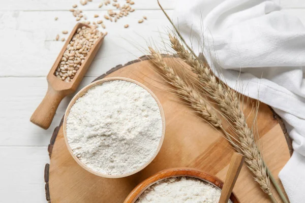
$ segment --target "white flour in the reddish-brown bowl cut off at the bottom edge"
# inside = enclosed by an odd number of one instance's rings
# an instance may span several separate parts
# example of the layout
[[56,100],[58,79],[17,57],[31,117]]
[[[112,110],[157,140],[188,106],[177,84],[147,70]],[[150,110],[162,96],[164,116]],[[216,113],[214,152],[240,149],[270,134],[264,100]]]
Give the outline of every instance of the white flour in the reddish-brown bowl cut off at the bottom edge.
[[[205,181],[177,177],[168,178],[147,188],[136,203],[218,203],[221,190]],[[232,203],[231,200],[229,200]]]

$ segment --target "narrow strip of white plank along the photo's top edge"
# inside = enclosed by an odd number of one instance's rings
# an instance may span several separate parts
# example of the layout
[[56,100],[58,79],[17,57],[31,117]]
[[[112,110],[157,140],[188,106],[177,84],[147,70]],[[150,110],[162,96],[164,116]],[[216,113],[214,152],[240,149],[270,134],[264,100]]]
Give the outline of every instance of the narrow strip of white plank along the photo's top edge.
[[[4,2],[2,0],[0,11],[53,11],[53,10],[69,10],[72,8],[72,5],[77,4],[78,8],[85,10],[105,10],[105,9],[113,9],[114,7],[111,4],[108,6],[103,6],[102,8],[98,8],[98,5],[104,2],[103,0],[94,0],[92,2],[88,2],[87,5],[82,6],[79,0],[32,0],[32,1],[24,1],[24,0],[15,0],[10,2]],[[120,5],[126,3],[125,0],[117,1]],[[159,9],[157,4],[157,0],[134,0],[135,4],[132,5],[134,9]],[[165,9],[173,9],[176,0],[160,0],[163,8]]]

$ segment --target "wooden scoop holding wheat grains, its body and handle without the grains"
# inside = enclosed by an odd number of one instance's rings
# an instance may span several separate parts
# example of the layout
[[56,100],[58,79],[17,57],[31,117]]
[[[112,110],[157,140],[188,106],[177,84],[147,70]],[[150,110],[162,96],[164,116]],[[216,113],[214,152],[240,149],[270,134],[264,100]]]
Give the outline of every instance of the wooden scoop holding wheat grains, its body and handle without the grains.
[[68,94],[72,94],[76,91],[79,83],[81,82],[82,78],[84,77],[85,73],[88,70],[90,63],[92,62],[93,58],[95,57],[96,53],[98,52],[103,40],[104,35],[102,35],[94,44],[94,46],[90,49],[89,53],[87,54],[85,61],[81,64],[79,70],[75,74],[73,80],[71,82],[65,82],[58,79],[54,73],[58,67],[60,60],[62,59],[64,52],[70,41],[73,38],[73,35],[77,31],[78,28],[82,26],[90,27],[83,23],[77,23],[73,30],[71,31],[70,36],[68,37],[64,47],[58,54],[52,69],[50,70],[47,81],[48,81],[48,90],[41,101],[40,105],[37,107],[35,112],[33,113],[30,121],[44,129],[48,129],[56,112],[56,109],[60,103],[60,101],[67,96]]

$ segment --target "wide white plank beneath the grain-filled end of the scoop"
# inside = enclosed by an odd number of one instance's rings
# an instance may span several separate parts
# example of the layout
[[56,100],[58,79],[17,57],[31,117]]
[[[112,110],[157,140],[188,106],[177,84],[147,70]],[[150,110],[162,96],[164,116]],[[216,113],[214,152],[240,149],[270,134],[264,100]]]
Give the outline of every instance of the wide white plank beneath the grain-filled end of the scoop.
[[[88,20],[91,20],[96,12],[84,13],[89,17]],[[172,11],[168,11],[168,14],[171,15]],[[15,11],[2,12],[1,15],[0,77],[46,76],[64,45],[61,41],[53,41],[55,36],[62,30],[72,30],[76,23],[71,12]],[[138,20],[143,15],[147,16],[147,20],[139,24]],[[55,16],[58,16],[58,21],[54,21]],[[103,16],[103,13],[100,16]],[[87,76],[97,77],[117,64],[143,55],[138,48],[146,48],[146,43],[150,39],[160,42],[160,32],[165,32],[169,26],[168,20],[160,10],[133,12],[116,23],[105,19],[104,21],[108,35]],[[124,28],[125,24],[129,24],[129,27]]]

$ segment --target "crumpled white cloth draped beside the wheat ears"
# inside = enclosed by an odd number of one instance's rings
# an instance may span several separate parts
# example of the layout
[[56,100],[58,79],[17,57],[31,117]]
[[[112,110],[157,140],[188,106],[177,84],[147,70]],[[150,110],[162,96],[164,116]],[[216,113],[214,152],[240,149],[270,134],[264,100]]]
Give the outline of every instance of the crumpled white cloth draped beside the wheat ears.
[[230,87],[285,121],[294,154],[279,176],[291,203],[305,202],[304,25],[265,0],[179,0],[172,19]]

